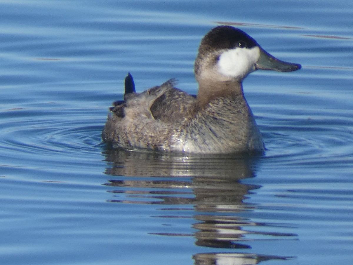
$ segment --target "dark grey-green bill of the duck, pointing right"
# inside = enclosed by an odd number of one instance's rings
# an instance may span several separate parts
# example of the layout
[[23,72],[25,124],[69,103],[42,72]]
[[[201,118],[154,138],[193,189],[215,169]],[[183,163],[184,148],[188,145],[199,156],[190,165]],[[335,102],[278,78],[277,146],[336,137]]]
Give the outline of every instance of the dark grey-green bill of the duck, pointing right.
[[260,48],[260,58],[255,64],[255,68],[261,70],[274,70],[279,72],[292,72],[299,70],[301,65],[281,61]]

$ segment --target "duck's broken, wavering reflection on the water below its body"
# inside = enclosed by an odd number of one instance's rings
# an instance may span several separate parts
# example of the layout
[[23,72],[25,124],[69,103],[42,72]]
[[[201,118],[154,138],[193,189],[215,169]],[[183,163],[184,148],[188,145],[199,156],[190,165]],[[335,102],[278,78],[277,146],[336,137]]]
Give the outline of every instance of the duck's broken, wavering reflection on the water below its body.
[[[243,202],[258,185],[240,183],[240,179],[254,177],[256,159],[234,155],[186,156],[152,152],[106,150],[112,162],[106,174],[114,176],[104,185],[114,187],[110,202],[170,205],[163,210],[188,210],[197,214],[194,234],[153,231],[165,236],[194,236],[197,246],[223,249],[251,249],[254,240],[293,239],[295,234],[269,231],[281,224],[252,222],[239,214],[252,211],[254,205]],[[173,205],[173,206],[172,206]],[[184,205],[184,207],[180,207]],[[193,208],[185,208],[186,206]],[[175,206],[177,206],[175,208]],[[161,218],[185,218],[164,214]],[[265,227],[261,231],[261,227]],[[248,253],[199,253],[195,264],[257,264],[269,259],[287,259],[271,255]]]

